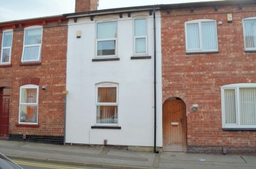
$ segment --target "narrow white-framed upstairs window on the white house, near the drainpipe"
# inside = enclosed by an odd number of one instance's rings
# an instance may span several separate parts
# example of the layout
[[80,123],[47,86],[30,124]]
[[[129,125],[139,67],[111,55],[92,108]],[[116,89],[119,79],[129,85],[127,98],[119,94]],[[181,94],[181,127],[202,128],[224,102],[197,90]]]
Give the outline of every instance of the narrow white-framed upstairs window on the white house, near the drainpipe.
[[134,53],[145,55],[147,51],[146,18],[134,19]]

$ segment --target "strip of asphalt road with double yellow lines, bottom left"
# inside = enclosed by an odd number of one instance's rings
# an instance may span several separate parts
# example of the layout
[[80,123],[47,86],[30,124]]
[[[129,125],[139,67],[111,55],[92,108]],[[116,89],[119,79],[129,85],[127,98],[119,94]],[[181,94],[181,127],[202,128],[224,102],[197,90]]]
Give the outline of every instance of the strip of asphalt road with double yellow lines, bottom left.
[[53,163],[41,163],[36,161],[26,161],[26,160],[14,160],[14,162],[20,165],[23,169],[97,169],[97,168],[88,168],[88,167],[79,167],[75,165],[60,165]]

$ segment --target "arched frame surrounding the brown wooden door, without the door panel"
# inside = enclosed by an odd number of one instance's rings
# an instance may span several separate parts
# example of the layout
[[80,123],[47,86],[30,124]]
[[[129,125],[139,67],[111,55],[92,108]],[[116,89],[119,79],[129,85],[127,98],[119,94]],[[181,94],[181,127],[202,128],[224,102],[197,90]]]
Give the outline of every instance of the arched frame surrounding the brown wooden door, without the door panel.
[[[162,132],[163,132],[163,135],[162,135],[162,141],[163,141],[163,143],[162,143],[162,145],[163,145],[163,151],[164,151],[164,104],[166,103],[166,102],[168,102],[168,101],[170,101],[170,100],[181,100],[182,102],[183,102],[183,104],[184,104],[184,107],[185,107],[185,110],[183,111],[183,116],[184,117],[186,117],[186,119],[184,119],[184,121],[186,121],[186,126],[185,126],[185,128],[186,129],[184,129],[184,131],[183,131],[183,136],[185,137],[185,142],[184,142],[184,151],[183,152],[186,152],[187,151],[187,146],[188,146],[188,124],[187,124],[187,107],[186,107],[186,103],[183,101],[183,99],[181,99],[181,98],[179,98],[179,97],[169,97],[169,99],[166,99],[165,101],[164,101],[164,103],[163,103],[163,108],[162,108]],[[171,123],[171,120],[169,121],[169,123]],[[185,132],[185,133],[184,133]],[[182,151],[181,151],[182,152]]]

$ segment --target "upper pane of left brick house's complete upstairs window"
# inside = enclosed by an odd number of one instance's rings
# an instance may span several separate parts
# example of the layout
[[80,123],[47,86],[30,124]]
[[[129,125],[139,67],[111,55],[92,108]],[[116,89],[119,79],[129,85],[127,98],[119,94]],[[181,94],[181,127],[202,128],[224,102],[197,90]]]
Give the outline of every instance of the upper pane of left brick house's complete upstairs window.
[[25,45],[41,44],[42,28],[26,30]]

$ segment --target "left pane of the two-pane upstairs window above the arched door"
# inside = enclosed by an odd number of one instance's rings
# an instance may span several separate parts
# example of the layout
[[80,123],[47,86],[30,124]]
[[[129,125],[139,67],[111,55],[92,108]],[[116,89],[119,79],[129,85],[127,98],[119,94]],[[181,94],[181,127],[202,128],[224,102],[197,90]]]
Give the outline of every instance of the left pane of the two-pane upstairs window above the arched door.
[[199,26],[198,23],[189,23],[186,26],[188,49],[199,49]]

